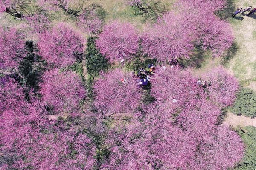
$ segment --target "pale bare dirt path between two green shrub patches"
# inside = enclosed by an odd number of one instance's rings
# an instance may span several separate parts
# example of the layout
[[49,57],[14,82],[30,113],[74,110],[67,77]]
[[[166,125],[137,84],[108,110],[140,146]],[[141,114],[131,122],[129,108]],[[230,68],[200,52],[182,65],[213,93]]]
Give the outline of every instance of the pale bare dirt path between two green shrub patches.
[[251,119],[250,117],[245,116],[236,116],[231,112],[227,112],[227,117],[223,122],[224,124],[236,126],[254,126],[256,127],[256,118]]

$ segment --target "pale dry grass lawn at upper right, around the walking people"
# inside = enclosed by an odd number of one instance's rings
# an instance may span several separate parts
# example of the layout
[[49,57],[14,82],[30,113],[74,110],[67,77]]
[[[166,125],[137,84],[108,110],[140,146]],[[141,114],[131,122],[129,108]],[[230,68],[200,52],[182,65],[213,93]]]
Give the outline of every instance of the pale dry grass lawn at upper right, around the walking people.
[[[237,8],[255,4],[256,0],[234,1],[234,6]],[[256,15],[250,17],[241,15],[241,17],[242,20],[229,19],[238,49],[227,67],[239,79],[241,85],[256,90]]]

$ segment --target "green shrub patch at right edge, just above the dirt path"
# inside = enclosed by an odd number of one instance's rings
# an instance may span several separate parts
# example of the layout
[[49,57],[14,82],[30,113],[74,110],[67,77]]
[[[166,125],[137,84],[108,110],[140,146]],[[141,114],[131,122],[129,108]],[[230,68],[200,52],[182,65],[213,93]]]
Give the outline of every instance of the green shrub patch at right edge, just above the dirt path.
[[239,116],[256,117],[256,92],[242,88],[237,95],[231,111]]

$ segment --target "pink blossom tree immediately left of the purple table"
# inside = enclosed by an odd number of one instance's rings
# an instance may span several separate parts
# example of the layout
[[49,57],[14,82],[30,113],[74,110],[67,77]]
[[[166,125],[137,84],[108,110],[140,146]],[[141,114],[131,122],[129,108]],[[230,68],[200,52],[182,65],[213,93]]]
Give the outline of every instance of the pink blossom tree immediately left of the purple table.
[[94,105],[104,116],[129,115],[140,104],[140,88],[136,77],[117,68],[96,80]]

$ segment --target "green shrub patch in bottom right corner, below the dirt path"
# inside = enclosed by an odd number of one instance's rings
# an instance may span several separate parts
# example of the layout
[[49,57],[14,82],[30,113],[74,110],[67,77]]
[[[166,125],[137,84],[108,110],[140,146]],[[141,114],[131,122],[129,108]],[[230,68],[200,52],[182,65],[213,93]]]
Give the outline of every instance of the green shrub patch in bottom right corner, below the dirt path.
[[236,128],[245,144],[244,158],[234,170],[256,170],[256,127],[247,126]]

